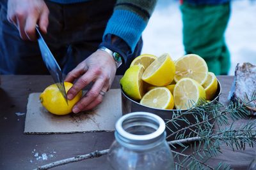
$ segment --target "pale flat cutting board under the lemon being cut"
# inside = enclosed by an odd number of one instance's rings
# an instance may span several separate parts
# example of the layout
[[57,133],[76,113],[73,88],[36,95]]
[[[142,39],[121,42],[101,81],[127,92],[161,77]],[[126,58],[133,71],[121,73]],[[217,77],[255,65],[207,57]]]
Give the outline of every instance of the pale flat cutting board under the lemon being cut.
[[121,91],[109,90],[102,103],[92,111],[58,116],[49,113],[39,101],[40,93],[29,94],[24,133],[56,134],[74,132],[115,131],[122,117]]

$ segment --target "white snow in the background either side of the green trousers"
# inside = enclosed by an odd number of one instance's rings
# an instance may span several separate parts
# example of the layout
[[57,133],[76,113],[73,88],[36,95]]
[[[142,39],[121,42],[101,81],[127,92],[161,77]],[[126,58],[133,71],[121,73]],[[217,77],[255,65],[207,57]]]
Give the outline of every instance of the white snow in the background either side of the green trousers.
[[[256,1],[232,1],[232,13],[226,31],[231,53],[230,75],[238,62],[256,65]],[[173,59],[184,55],[182,20],[178,1],[159,0],[148,26],[143,32],[142,53],[170,53]]]

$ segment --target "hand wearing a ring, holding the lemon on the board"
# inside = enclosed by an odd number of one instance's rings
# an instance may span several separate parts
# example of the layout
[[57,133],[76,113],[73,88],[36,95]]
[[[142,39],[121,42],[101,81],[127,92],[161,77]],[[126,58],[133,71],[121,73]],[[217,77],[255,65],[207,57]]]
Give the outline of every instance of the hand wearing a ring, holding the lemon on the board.
[[[68,99],[82,90],[90,82],[94,82],[92,89],[73,107],[72,111],[91,110],[102,102],[104,92],[108,91],[113,83],[116,73],[115,60],[109,53],[97,50],[81,62],[75,69],[67,74],[65,81],[72,82],[78,78],[73,87],[68,90]],[[103,92],[103,93],[102,93]]]

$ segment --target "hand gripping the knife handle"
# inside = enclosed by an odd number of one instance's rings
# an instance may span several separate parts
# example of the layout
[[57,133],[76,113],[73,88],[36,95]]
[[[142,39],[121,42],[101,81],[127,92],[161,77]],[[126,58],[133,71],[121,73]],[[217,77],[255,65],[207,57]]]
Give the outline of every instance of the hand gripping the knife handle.
[[24,40],[36,40],[35,27],[47,32],[49,10],[44,0],[8,0],[8,21],[14,24]]

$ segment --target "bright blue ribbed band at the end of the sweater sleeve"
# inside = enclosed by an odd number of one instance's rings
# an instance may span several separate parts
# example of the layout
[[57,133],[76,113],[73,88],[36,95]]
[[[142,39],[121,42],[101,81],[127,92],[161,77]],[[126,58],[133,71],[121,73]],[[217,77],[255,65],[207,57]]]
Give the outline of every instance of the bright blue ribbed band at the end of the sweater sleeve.
[[145,27],[146,22],[139,15],[127,10],[115,10],[108,22],[103,39],[107,34],[118,36],[129,45],[133,53]]

